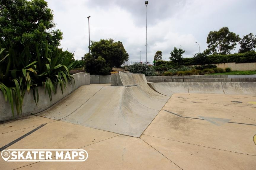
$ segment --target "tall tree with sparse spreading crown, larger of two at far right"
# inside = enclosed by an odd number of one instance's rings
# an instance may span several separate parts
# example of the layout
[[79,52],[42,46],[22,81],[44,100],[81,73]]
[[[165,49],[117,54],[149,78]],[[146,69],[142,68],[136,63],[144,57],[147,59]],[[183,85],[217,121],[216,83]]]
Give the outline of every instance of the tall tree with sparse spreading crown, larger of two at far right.
[[207,36],[208,49],[205,54],[230,54],[241,38],[233,32],[230,32],[228,27],[223,27],[219,31],[210,31]]

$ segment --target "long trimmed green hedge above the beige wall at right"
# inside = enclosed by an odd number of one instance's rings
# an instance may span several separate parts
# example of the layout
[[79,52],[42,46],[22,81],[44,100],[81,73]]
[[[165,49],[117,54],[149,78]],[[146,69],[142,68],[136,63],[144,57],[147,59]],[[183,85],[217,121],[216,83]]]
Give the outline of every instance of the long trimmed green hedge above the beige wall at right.
[[[246,53],[236,53],[228,55],[208,55],[205,57],[205,64],[218,64],[218,63],[254,63],[256,62],[256,52],[250,51]],[[183,58],[182,65],[199,65],[194,58]]]

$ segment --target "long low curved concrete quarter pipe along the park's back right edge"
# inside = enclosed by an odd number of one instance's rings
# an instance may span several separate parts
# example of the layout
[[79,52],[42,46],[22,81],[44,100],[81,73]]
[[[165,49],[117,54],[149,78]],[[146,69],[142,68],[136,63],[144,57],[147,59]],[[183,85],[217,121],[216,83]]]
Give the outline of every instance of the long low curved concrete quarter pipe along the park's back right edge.
[[256,82],[153,82],[149,86],[166,96],[174,93],[256,95]]

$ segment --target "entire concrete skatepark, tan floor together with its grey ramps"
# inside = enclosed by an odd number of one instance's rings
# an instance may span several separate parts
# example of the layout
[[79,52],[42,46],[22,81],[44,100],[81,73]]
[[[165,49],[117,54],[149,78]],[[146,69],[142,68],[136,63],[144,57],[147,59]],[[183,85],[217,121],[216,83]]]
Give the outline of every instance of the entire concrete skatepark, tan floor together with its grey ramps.
[[1,159],[1,169],[256,168],[254,78],[156,79],[113,72],[111,84],[82,85],[44,111],[2,122],[3,149],[84,149],[89,156]]

